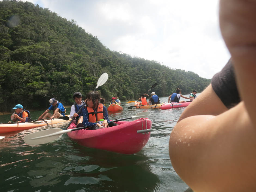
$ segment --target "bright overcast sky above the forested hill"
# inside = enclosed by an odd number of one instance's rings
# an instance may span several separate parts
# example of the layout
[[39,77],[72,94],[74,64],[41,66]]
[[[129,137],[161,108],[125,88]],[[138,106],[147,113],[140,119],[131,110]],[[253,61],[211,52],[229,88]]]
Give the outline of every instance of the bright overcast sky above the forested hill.
[[230,58],[218,0],[28,0],[92,33],[112,51],[212,78]]

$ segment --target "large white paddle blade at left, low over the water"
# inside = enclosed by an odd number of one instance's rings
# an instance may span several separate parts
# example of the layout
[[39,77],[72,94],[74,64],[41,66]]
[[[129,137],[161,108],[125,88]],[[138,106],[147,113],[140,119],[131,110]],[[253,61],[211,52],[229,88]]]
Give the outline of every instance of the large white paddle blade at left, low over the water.
[[63,133],[71,132],[71,129],[62,130],[60,128],[46,129],[30,133],[24,137],[24,142],[29,145],[41,145],[49,143],[59,138]]

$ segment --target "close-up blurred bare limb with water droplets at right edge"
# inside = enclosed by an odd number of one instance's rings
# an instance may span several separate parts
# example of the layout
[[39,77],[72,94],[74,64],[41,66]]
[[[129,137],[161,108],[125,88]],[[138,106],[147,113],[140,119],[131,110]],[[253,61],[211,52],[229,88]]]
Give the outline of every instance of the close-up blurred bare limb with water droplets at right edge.
[[256,101],[249,98],[256,93],[255,7],[255,1],[220,1],[221,32],[243,101],[217,116],[184,118],[170,136],[172,165],[197,192],[256,191]]

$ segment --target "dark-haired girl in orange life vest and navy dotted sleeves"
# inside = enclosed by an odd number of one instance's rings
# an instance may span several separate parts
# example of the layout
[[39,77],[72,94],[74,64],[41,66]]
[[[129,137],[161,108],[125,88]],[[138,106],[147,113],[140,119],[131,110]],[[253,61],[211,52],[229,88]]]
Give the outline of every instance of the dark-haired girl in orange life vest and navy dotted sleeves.
[[[114,97],[113,97],[114,98]],[[108,118],[107,108],[103,105],[104,99],[100,98],[98,91],[90,91],[86,95],[86,107],[83,107],[83,125],[91,126],[87,129],[94,130],[118,125]],[[102,125],[98,121],[102,121]]]

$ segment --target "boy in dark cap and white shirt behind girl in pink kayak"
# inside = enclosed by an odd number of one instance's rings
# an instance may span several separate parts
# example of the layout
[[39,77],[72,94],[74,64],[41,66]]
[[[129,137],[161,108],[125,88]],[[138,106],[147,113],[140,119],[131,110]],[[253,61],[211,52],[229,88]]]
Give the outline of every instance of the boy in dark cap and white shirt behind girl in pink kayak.
[[73,94],[73,99],[75,100],[74,105],[71,106],[70,109],[70,115],[69,118],[75,118],[75,122],[77,124],[77,127],[82,127],[83,126],[83,111],[81,110],[79,114],[77,114],[78,110],[81,108],[81,106],[84,104],[85,101],[82,101],[82,94],[80,92],[75,92]]

